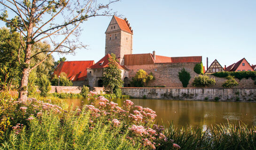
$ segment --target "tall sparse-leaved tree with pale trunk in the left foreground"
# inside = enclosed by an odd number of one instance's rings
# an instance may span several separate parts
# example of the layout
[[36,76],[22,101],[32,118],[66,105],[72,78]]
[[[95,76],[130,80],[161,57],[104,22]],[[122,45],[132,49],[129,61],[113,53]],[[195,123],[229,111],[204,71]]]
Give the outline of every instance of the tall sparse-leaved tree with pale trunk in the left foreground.
[[[27,98],[31,70],[53,52],[69,53],[85,47],[77,42],[81,23],[91,17],[109,15],[109,4],[116,1],[119,0],[110,0],[106,4],[97,0],[0,0],[0,5],[4,7],[0,20],[11,31],[18,31],[21,41],[24,41],[18,49],[18,54],[24,53],[24,62],[20,63],[22,77],[19,98]],[[9,18],[8,10],[15,16]],[[32,54],[33,45],[46,39],[51,42],[52,49]],[[31,59],[42,52],[47,53],[46,57],[31,67]],[[17,60],[20,60],[19,55]]]

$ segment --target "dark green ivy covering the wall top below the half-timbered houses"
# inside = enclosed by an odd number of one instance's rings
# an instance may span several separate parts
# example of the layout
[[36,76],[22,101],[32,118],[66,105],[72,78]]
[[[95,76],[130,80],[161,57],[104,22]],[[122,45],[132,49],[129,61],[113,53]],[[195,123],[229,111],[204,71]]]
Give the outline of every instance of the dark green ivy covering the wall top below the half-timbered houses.
[[234,76],[235,78],[241,80],[242,78],[246,78],[248,79],[249,77],[251,77],[252,80],[256,79],[256,71],[237,71],[237,72],[217,72],[214,74],[211,74],[217,77],[227,77],[228,75]]

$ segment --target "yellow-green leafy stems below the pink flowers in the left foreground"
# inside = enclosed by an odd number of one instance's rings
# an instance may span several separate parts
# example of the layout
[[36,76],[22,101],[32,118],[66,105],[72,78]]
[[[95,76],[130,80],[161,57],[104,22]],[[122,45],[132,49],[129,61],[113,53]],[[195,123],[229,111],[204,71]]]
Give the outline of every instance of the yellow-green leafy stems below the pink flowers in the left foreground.
[[[19,134],[8,131],[0,150],[138,150],[126,138],[128,130],[104,125],[101,120],[90,128],[90,113],[84,110],[66,113],[63,118],[54,112],[43,113],[40,119],[30,121]],[[123,134],[120,134],[123,133]],[[140,147],[141,149],[141,147]]]

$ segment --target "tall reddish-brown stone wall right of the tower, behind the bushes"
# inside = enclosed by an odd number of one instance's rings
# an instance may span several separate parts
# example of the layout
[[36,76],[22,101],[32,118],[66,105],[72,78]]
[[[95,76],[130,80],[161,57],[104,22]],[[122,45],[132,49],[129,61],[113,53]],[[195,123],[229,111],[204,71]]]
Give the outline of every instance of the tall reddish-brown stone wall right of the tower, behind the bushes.
[[192,79],[194,76],[198,75],[194,72],[194,66],[198,62],[189,62],[189,63],[155,63],[152,65],[131,65],[126,66],[129,69],[129,79],[132,81],[132,77],[136,75],[136,73],[143,69],[148,74],[153,73],[155,76],[154,81],[148,82],[147,86],[163,86],[171,87],[171,88],[180,88],[182,87],[182,83],[179,81],[178,72],[185,68],[187,72],[190,73],[191,79],[189,81],[188,87],[192,86]]

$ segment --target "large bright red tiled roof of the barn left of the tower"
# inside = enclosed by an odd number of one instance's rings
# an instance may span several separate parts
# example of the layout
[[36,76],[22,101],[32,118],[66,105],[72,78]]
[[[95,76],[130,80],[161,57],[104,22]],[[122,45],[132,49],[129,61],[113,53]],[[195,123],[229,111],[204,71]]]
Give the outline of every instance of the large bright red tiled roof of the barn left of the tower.
[[94,64],[93,60],[88,61],[62,61],[54,70],[53,75],[59,76],[62,72],[66,73],[72,81],[83,81],[87,77],[87,67]]

